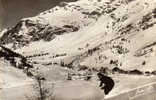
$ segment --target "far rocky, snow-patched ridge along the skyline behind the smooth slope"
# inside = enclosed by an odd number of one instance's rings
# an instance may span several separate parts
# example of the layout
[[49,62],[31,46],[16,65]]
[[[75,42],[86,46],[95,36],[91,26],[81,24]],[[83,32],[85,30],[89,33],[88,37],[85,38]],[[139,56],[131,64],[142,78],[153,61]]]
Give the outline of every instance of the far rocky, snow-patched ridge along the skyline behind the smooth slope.
[[[62,2],[36,17],[20,20],[17,25],[3,33],[0,44],[11,43],[16,49],[33,41],[51,41],[57,35],[76,32],[93,25],[102,15],[109,16],[120,5],[122,3],[119,1],[111,0],[108,2],[90,0],[79,1],[79,3]],[[114,19],[113,14],[111,17]]]

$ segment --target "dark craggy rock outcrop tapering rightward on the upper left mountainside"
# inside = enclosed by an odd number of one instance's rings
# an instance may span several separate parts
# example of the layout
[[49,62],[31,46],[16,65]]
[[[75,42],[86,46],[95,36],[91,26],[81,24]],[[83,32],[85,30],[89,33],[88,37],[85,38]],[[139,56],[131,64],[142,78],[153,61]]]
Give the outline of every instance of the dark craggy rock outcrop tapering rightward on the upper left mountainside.
[[78,31],[79,27],[64,25],[62,27],[50,26],[42,20],[21,20],[15,27],[3,33],[0,44],[12,44],[14,49],[28,45],[31,42],[44,40],[51,41],[57,35]]

